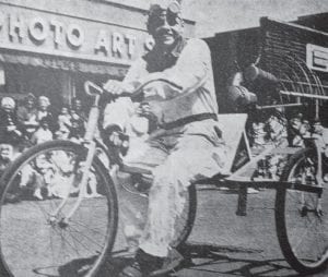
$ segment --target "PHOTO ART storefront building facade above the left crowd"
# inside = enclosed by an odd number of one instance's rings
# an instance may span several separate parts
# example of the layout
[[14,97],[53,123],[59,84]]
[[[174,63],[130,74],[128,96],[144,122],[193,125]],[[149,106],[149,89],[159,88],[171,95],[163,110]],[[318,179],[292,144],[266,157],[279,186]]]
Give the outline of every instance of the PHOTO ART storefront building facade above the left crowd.
[[[119,1],[1,0],[0,98],[46,95],[54,106],[84,98],[83,83],[121,80],[152,48],[147,10]],[[194,22],[186,22],[192,36]]]

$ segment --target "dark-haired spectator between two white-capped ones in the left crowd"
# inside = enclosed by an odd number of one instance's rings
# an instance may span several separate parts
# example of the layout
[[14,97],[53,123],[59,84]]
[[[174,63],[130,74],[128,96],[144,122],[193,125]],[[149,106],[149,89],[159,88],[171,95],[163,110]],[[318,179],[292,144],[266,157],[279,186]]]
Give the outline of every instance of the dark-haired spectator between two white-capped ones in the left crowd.
[[35,96],[28,94],[24,99],[24,106],[17,108],[17,119],[22,125],[24,134],[31,138],[36,131],[38,122],[36,120],[37,110],[35,108]]

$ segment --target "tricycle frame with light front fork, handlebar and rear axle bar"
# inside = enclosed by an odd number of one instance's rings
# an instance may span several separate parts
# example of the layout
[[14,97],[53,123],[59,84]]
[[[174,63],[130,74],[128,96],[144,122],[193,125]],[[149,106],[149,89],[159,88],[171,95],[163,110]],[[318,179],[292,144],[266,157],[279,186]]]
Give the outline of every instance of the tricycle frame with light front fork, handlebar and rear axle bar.
[[[138,96],[140,96],[142,88],[152,82],[166,82],[172,86],[180,88],[179,86],[171,83],[169,81],[159,79],[159,80],[149,81],[149,82],[140,85],[132,94],[124,93],[120,95],[120,97],[131,97],[131,98],[138,97]],[[199,84],[201,85],[202,81],[200,81]],[[82,180],[79,184],[80,193],[79,193],[78,201],[75,202],[75,204],[71,208],[71,210],[68,213],[68,216],[63,219],[63,221],[69,220],[73,216],[74,212],[78,209],[78,207],[80,206],[80,204],[84,197],[84,194],[86,192],[86,185],[87,185],[87,177],[90,173],[93,158],[96,154],[96,148],[97,147],[103,148],[107,158],[110,160],[110,153],[108,152],[107,147],[94,137],[96,127],[98,123],[98,119],[99,119],[99,99],[101,99],[101,95],[104,93],[104,89],[90,81],[85,82],[84,88],[85,88],[85,92],[87,95],[91,95],[94,97],[94,103],[93,103],[92,108],[89,113],[86,132],[83,137],[83,142],[82,142],[82,144],[87,148],[87,155],[86,155],[86,159],[85,159],[85,162],[84,162],[83,169],[82,169]],[[94,92],[91,92],[92,89]],[[317,153],[317,157],[318,157],[318,165],[317,165],[318,170],[316,173],[316,181],[318,184],[317,188],[307,186],[307,185],[297,185],[294,183],[286,183],[286,182],[278,182],[278,181],[272,181],[272,180],[254,181],[254,180],[239,179],[238,172],[242,172],[243,170],[245,170],[245,168],[247,168],[247,166],[249,166],[249,164],[257,162],[257,160],[259,160],[261,155],[259,155],[259,157],[257,157],[255,159],[251,159],[251,161],[246,162],[246,165],[242,166],[238,170],[236,170],[234,173],[232,173],[227,178],[220,177],[219,179],[218,178],[216,179],[215,178],[204,179],[204,180],[199,181],[198,183],[214,184],[215,186],[224,186],[226,184],[231,184],[232,186],[238,186],[239,188],[239,197],[238,197],[238,205],[237,205],[236,214],[242,215],[242,216],[246,215],[247,186],[248,185],[251,185],[255,188],[267,188],[267,189],[276,189],[276,190],[278,190],[280,186],[284,186],[284,188],[290,188],[290,189],[304,191],[304,192],[306,192],[306,191],[314,192],[315,191],[318,194],[321,194],[323,188],[324,188],[324,185],[323,185],[324,181],[323,181],[323,177],[321,177],[323,171],[321,171],[320,147],[315,138],[309,138],[309,140],[307,138],[305,141],[306,141],[307,146],[311,145],[311,147],[313,147],[315,149],[315,152]],[[266,153],[268,154],[268,150]],[[119,165],[119,166],[121,166],[121,165]],[[71,185],[73,185],[73,184],[71,184]],[[60,213],[60,210],[65,207],[68,198],[69,198],[69,195],[67,195],[63,198],[61,204],[58,206],[58,208],[54,213],[54,215],[52,215],[54,218],[56,218],[58,216],[58,214]],[[320,203],[318,203],[318,206],[320,206]]]

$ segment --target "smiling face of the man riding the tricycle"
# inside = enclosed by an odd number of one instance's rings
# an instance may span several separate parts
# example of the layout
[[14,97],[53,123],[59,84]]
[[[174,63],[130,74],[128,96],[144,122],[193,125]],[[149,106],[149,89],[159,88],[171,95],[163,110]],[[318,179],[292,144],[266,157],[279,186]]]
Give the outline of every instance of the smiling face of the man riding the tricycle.
[[179,15],[160,8],[150,14],[149,25],[156,44],[163,47],[173,46],[183,31]]

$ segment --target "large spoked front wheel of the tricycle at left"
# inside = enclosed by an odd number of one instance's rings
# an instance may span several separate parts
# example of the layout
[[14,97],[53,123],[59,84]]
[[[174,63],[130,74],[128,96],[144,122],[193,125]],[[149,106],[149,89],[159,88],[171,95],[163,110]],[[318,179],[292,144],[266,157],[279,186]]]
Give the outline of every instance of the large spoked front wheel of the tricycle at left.
[[74,143],[48,142],[21,155],[2,177],[5,276],[95,276],[105,265],[117,230],[116,191],[96,157],[86,190],[81,189],[85,156]]

